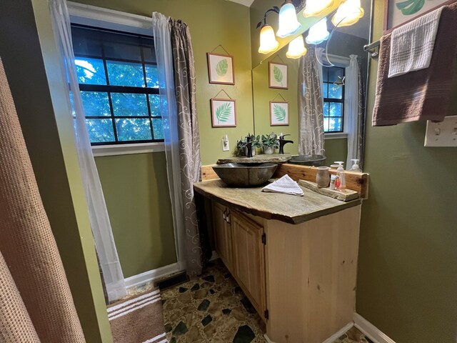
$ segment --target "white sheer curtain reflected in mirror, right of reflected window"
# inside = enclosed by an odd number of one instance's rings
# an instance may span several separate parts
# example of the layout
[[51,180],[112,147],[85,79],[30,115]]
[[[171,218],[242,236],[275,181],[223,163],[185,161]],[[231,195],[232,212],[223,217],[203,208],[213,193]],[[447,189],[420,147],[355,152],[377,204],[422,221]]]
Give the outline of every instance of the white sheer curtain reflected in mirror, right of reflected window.
[[363,110],[363,81],[361,77],[358,56],[349,56],[349,66],[346,68],[345,84],[346,100],[344,111],[346,120],[346,131],[348,132],[348,157],[346,169],[351,169],[351,159],[360,159],[359,166],[363,161],[363,133],[365,125],[365,111]]

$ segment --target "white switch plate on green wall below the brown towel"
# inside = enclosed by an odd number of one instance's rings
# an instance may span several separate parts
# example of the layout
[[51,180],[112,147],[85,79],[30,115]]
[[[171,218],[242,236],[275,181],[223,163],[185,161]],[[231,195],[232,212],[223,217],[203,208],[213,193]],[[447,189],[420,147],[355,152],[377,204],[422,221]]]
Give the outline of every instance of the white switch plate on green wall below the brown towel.
[[443,121],[427,121],[424,146],[457,146],[457,116],[446,116]]

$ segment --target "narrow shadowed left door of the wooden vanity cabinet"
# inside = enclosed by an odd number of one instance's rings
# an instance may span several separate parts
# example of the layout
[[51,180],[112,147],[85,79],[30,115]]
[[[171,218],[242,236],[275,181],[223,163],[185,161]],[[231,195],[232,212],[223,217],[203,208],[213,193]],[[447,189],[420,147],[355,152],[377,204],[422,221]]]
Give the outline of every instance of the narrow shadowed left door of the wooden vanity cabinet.
[[217,202],[213,202],[214,241],[216,252],[222,262],[233,274],[232,229],[230,210]]

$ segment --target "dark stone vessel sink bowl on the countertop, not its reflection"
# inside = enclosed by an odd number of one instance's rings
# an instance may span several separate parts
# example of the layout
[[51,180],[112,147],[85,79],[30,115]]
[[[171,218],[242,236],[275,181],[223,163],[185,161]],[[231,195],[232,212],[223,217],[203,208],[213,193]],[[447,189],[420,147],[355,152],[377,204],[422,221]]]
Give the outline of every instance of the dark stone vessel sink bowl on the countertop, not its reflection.
[[213,169],[229,186],[254,187],[266,183],[277,167],[274,163],[226,163],[213,166]]

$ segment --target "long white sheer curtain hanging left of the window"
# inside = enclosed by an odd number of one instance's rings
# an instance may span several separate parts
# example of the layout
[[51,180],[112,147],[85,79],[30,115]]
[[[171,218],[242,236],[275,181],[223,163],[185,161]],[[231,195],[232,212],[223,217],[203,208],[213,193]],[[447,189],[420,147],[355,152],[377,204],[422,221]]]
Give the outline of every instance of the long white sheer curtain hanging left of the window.
[[[61,52],[62,77],[69,84],[69,96],[66,100],[69,103],[69,108],[74,112],[79,168],[81,169],[81,177],[86,191],[92,234],[94,235],[96,252],[103,272],[106,293],[108,294],[109,302],[114,302],[127,294],[126,285],[116,245],[114,244],[99,172],[96,168],[89,133],[86,129],[86,118],[74,64],[69,12],[65,0],[50,0],[49,7],[56,44]],[[71,114],[69,113],[69,115]]]

